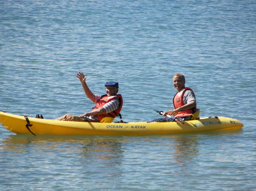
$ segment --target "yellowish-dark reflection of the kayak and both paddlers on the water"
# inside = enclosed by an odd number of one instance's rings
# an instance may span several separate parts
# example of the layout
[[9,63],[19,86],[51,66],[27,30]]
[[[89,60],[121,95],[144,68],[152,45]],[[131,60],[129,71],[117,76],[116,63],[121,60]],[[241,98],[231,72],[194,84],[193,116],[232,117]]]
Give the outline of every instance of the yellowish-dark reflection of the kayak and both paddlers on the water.
[[[79,158],[85,158],[86,163],[94,163],[96,160],[106,165],[120,165],[125,152],[123,145],[130,142],[141,142],[159,146],[163,140],[168,140],[166,144],[171,145],[174,150],[173,158],[179,163],[193,163],[199,153],[200,141],[203,137],[210,135],[211,138],[220,135],[237,135],[242,130],[233,131],[213,131],[192,134],[162,135],[149,137],[115,137],[115,136],[80,136],[80,135],[9,135],[1,142],[0,150],[2,152],[28,152],[33,149],[40,151],[56,150],[65,153],[79,155]],[[159,140],[160,139],[160,140]],[[143,145],[142,145],[143,146]],[[170,151],[171,151],[170,150]]]

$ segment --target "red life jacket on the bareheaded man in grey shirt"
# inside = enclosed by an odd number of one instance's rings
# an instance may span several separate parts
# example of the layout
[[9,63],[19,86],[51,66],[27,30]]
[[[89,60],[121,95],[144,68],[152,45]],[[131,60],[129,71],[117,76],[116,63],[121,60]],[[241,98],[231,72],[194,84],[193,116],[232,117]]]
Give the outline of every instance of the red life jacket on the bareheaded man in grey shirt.
[[[174,99],[172,100],[172,102],[174,103],[174,108],[180,108],[181,106],[185,105],[183,102],[183,97],[185,94],[185,91],[187,90],[191,90],[193,92],[193,90],[189,87],[184,88],[182,94],[180,96],[178,96],[178,92],[175,94]],[[194,94],[194,92],[193,92]],[[194,94],[195,95],[195,94]],[[174,117],[188,117],[188,116],[192,116],[193,113],[195,113],[196,111],[196,107],[191,108],[191,109],[186,109],[184,111],[178,112]]]

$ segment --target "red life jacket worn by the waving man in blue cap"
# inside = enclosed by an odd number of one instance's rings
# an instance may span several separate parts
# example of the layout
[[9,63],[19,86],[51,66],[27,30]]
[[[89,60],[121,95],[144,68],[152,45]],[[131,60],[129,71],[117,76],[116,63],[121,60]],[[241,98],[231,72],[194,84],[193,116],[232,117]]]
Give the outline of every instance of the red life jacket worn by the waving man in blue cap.
[[98,108],[102,108],[103,105],[105,105],[106,103],[108,103],[109,101],[112,101],[114,99],[119,99],[120,101],[120,106],[117,110],[113,111],[113,112],[110,112],[110,113],[106,113],[106,114],[98,114],[97,117],[98,117],[98,120],[102,120],[102,118],[104,117],[117,117],[119,116],[119,113],[122,109],[122,106],[123,106],[123,98],[122,98],[122,95],[121,94],[117,94],[117,96],[114,96],[114,97],[111,97],[109,99],[109,97],[107,95],[102,95],[101,96],[101,99],[96,103],[95,107],[93,108],[93,110],[95,109],[98,109]]

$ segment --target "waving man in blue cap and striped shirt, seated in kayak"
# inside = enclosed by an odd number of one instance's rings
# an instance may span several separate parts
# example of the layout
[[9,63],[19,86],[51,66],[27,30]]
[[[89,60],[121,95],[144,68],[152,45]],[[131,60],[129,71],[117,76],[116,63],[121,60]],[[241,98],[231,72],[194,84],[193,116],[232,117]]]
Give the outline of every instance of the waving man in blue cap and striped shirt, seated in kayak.
[[[86,96],[95,103],[95,107],[90,112],[80,114],[80,116],[73,116],[71,114],[65,114],[64,116],[57,118],[61,121],[84,121],[84,122],[112,122],[115,117],[119,116],[122,109],[123,99],[118,92],[118,82],[106,82],[106,94],[97,95],[93,94],[87,86],[85,80],[86,77],[83,73],[79,72],[76,75],[79,78],[82,88]],[[87,118],[89,117],[89,118]]]

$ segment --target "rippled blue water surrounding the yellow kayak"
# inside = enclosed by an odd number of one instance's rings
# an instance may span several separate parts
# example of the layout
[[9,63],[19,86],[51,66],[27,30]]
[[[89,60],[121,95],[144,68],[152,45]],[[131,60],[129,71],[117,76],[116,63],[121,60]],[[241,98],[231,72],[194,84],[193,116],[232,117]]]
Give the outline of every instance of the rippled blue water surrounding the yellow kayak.
[[15,135],[0,125],[1,190],[256,190],[256,1],[0,1],[0,110],[57,118],[119,82],[124,121],[172,108],[183,73],[201,116],[242,130]]

